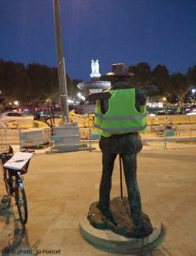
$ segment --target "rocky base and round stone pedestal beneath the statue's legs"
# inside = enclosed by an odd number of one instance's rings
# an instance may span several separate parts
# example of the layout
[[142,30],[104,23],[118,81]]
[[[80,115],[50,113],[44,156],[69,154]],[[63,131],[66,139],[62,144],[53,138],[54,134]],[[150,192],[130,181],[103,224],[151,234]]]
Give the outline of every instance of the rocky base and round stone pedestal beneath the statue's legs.
[[142,213],[144,232],[135,233],[130,217],[129,202],[126,197],[112,199],[110,211],[116,224],[101,213],[97,202],[89,207],[88,217],[80,221],[80,230],[84,238],[95,247],[110,253],[130,253],[141,247],[146,247],[156,241],[162,231],[162,225],[152,227],[147,214]]

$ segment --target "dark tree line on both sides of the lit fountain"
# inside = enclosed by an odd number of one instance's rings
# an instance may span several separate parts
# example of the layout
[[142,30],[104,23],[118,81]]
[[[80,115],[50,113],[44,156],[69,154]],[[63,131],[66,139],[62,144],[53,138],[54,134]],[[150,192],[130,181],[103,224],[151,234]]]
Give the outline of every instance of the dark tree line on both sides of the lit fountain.
[[[130,83],[137,88],[155,85],[159,88],[159,95],[177,98],[183,102],[187,91],[196,84],[196,65],[189,67],[187,74],[170,74],[167,67],[157,65],[151,70],[147,62],[140,62],[129,67]],[[75,98],[78,92],[78,79],[70,79],[66,74],[68,96]],[[26,66],[14,61],[0,60],[0,91],[3,103],[14,100],[29,103],[37,100],[50,99],[59,102],[58,70],[32,63]]]

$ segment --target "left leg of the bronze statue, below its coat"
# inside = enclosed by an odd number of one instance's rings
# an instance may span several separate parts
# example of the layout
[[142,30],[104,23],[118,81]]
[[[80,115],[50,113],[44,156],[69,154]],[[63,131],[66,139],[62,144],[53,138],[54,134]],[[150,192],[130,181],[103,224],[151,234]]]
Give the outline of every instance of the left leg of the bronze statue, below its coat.
[[100,183],[99,208],[106,212],[110,207],[110,190],[112,187],[112,172],[117,154],[102,153],[102,176]]

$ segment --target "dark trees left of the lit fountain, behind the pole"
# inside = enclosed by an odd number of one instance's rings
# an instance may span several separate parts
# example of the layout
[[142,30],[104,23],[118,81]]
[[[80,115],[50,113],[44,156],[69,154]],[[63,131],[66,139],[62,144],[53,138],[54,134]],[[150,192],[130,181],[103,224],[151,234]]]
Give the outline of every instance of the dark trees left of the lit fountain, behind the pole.
[[[68,96],[75,96],[76,82],[66,75]],[[25,67],[21,63],[0,60],[0,90],[8,98],[20,103],[36,100],[59,102],[58,69],[37,63]]]

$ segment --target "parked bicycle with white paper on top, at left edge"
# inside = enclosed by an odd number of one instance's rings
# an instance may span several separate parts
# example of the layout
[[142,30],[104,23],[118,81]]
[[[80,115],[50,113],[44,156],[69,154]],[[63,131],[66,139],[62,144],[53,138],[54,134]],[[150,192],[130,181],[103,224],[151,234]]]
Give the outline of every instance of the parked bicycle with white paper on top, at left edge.
[[30,152],[3,152],[0,154],[0,165],[3,170],[3,181],[7,195],[3,196],[3,203],[10,206],[11,198],[14,197],[15,204],[20,217],[21,224],[26,224],[28,218],[26,192],[23,177],[28,170],[32,157]]

